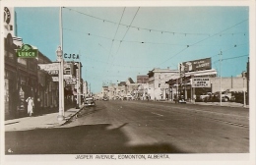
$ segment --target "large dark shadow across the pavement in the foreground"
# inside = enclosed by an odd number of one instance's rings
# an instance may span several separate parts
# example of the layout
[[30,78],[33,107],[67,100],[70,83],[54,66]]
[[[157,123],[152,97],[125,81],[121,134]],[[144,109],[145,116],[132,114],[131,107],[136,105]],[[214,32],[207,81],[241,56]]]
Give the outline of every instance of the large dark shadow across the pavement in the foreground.
[[169,143],[127,145],[122,128],[109,130],[110,124],[72,128],[6,132],[5,153],[10,154],[132,154],[184,153]]

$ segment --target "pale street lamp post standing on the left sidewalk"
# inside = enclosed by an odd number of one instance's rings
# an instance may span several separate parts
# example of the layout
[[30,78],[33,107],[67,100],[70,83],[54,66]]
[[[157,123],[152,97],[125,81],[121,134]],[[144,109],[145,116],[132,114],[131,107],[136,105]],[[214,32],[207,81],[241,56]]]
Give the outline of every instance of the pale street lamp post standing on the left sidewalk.
[[64,118],[64,87],[63,87],[63,51],[61,46],[56,50],[57,61],[59,62],[59,114],[57,116],[58,121],[63,121]]

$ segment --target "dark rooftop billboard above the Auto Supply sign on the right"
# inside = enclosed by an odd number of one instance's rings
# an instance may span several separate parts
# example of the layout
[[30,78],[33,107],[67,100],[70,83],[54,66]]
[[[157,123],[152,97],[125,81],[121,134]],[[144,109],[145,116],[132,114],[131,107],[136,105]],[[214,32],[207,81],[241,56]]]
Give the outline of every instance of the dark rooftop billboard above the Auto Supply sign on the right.
[[212,59],[205,58],[181,63],[182,72],[204,71],[212,69]]

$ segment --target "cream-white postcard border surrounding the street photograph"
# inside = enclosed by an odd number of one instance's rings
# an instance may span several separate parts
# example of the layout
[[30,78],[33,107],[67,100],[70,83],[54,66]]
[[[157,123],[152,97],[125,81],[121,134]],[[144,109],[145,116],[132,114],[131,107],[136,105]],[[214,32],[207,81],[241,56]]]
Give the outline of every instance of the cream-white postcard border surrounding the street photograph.
[[[4,105],[1,101],[1,163],[0,164],[232,164],[245,165],[255,164],[255,1],[254,0],[223,0],[223,1],[172,1],[172,0],[144,0],[144,1],[118,1],[118,0],[3,0],[0,1],[2,23],[2,10],[4,6],[8,7],[59,7],[59,6],[97,6],[97,7],[132,7],[132,6],[248,6],[249,7],[249,27],[250,27],[250,153],[249,154],[169,154],[169,160],[116,160],[116,161],[96,161],[96,160],[81,160],[75,161],[75,155],[22,155],[22,156],[5,156],[4,155]],[[1,35],[3,28],[1,27]],[[1,56],[0,62],[4,61],[3,37],[1,37]],[[0,65],[0,76],[4,77],[4,65]],[[0,79],[0,91],[4,91],[4,81]],[[2,92],[3,93],[3,92]],[[3,99],[3,94],[0,95],[0,100]],[[232,161],[230,161],[232,160]],[[29,161],[29,162],[28,162]],[[74,162],[75,161],[75,162]]]

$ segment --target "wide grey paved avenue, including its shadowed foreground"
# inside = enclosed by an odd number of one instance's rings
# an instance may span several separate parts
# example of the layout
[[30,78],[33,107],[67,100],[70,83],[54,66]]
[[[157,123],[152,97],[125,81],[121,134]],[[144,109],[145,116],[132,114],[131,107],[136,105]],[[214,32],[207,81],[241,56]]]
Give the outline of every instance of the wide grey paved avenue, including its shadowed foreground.
[[97,101],[60,128],[6,133],[6,147],[12,154],[248,153],[248,115],[243,108]]

